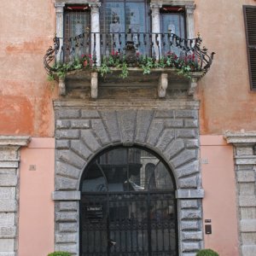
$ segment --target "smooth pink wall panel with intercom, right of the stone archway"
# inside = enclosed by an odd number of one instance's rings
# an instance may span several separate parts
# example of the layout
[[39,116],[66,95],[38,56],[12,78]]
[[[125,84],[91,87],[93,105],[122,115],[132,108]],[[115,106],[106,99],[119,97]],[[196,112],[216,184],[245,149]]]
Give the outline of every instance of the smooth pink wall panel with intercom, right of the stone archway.
[[222,136],[201,136],[201,174],[203,219],[212,220],[212,235],[204,235],[205,247],[221,256],[238,256],[233,147]]

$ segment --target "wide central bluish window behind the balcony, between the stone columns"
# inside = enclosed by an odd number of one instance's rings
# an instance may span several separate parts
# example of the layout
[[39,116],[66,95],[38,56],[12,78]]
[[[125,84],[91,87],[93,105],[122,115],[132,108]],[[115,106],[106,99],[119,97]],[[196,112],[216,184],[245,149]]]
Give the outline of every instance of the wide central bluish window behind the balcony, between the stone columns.
[[106,54],[122,51],[127,41],[132,42],[141,53],[148,51],[146,45],[140,42],[143,41],[143,34],[150,31],[149,20],[148,3],[145,0],[103,1],[101,33]]

